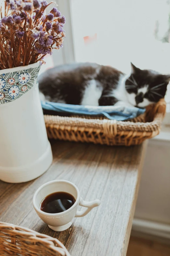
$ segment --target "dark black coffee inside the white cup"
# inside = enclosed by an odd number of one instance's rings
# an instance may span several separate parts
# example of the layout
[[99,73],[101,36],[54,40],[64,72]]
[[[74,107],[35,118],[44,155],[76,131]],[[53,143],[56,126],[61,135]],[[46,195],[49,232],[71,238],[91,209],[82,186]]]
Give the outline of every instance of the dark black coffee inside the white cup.
[[41,202],[41,211],[45,213],[61,213],[69,209],[76,199],[66,192],[55,192],[46,196]]

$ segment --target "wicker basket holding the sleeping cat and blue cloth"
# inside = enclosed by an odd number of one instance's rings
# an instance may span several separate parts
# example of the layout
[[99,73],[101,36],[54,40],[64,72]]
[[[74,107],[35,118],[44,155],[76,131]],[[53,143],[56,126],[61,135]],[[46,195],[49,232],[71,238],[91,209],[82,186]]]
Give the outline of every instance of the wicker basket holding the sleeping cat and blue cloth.
[[130,146],[159,134],[165,111],[166,103],[161,99],[127,122],[89,116],[44,115],[44,118],[49,139]]

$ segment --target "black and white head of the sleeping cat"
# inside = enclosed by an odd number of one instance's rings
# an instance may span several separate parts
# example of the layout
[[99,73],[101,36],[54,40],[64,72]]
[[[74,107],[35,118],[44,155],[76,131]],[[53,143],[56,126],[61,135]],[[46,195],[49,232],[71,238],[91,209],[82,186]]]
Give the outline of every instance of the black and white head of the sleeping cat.
[[132,72],[125,81],[129,102],[136,107],[144,108],[164,98],[170,75],[161,75],[151,70],[141,70],[132,63]]

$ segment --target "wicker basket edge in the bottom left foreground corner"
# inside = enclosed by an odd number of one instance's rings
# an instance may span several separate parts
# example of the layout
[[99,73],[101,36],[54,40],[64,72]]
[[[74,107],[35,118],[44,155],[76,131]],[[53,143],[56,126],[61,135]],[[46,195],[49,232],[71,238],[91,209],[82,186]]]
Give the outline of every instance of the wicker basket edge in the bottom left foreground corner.
[[0,222],[0,255],[70,256],[57,239],[4,222]]

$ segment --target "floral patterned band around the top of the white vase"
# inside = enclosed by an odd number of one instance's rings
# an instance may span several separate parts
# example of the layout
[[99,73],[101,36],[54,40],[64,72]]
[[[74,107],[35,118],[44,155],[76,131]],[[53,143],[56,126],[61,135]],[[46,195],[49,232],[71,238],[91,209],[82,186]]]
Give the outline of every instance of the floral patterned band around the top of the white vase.
[[23,67],[20,71],[4,69],[0,75],[0,105],[12,102],[27,93],[37,80],[40,65],[34,68]]

